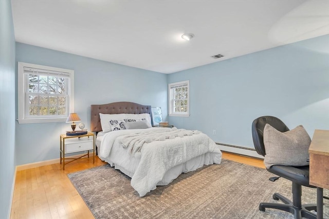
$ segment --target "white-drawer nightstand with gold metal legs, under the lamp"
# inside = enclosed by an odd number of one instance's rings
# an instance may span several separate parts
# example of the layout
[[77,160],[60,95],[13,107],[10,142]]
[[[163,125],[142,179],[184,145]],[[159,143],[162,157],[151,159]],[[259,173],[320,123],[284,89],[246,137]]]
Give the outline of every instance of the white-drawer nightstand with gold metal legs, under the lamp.
[[[90,138],[90,136],[92,136]],[[67,136],[66,134],[61,134],[60,136],[60,164],[62,164],[63,160],[63,170],[65,170],[65,164],[71,163],[72,161],[76,161],[79,158],[84,156],[88,156],[89,151],[93,150],[93,164],[95,163],[95,134],[92,132],[88,132],[83,135],[75,135],[75,136]],[[87,154],[79,156],[77,158],[65,158],[66,154],[88,151]],[[65,160],[72,160],[65,163]]]

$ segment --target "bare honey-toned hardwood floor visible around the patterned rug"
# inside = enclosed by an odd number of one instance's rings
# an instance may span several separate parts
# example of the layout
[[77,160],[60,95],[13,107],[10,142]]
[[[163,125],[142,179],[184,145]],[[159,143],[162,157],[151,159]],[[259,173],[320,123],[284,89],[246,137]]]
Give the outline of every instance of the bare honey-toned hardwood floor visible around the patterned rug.
[[[265,168],[258,158],[227,152],[223,152],[223,158]],[[95,157],[95,164],[93,158],[81,159],[65,165],[64,171],[60,164],[17,171],[10,218],[94,218],[67,173],[104,164]]]

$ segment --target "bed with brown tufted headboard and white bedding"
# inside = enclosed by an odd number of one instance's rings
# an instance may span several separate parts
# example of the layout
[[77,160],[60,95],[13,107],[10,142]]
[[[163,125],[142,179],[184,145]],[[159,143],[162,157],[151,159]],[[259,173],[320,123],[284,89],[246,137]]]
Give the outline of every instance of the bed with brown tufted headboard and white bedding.
[[117,102],[91,105],[90,111],[99,158],[130,176],[141,197],[181,173],[221,163],[221,150],[206,134],[152,127],[151,106]]

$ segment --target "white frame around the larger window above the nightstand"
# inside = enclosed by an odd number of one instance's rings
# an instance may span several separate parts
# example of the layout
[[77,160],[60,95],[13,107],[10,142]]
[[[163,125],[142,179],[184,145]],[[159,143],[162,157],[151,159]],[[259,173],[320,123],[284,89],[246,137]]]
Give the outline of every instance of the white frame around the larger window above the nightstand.
[[[17,107],[18,107],[18,122],[19,124],[32,124],[32,123],[58,123],[65,122],[67,119],[67,115],[70,112],[74,112],[74,70],[70,69],[62,69],[50,66],[36,65],[30,63],[18,62],[17,64]],[[36,116],[31,118],[27,115],[27,97],[26,97],[26,85],[27,85],[27,77],[24,68],[33,68],[33,69],[42,69],[45,71],[59,72],[68,74],[68,84],[67,84],[67,104],[66,104],[66,112],[67,115],[63,116],[52,116],[52,115],[43,115]],[[65,117],[64,117],[65,116]]]

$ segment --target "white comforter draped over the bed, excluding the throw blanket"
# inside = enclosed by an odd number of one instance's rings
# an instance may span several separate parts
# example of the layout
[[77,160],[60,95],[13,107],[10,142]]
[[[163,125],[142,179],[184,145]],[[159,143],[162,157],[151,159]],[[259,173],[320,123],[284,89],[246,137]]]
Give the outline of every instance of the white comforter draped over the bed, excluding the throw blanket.
[[[221,163],[221,150],[204,133],[194,131],[191,134],[190,131],[188,135],[170,134],[168,138],[165,137],[165,140],[163,140],[163,134],[161,135],[162,137],[154,138],[156,132],[169,133],[174,130],[169,128],[150,128],[108,132],[103,136],[99,157],[105,160],[111,153],[124,149],[130,156],[134,156],[134,160],[138,160],[135,167],[129,166],[129,161],[124,159],[117,159],[115,163],[128,171],[134,172],[131,185],[140,196],[144,196],[149,191],[154,190],[157,183],[162,180],[169,169],[194,157],[209,152],[213,155],[212,161],[214,164]],[[175,131],[184,130],[178,129]],[[127,144],[126,140],[136,133],[142,135],[150,134],[150,136],[153,136],[153,141],[143,141],[142,147],[139,144],[138,150],[132,153],[132,148],[127,147],[125,144]]]

